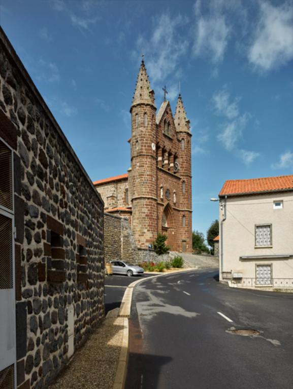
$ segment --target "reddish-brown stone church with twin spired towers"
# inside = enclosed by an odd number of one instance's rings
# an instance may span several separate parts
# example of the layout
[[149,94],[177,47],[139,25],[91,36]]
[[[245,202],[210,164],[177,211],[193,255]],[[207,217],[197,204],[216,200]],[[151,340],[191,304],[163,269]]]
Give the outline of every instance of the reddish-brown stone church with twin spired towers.
[[[165,95],[166,96],[166,95]],[[191,133],[181,95],[173,116],[164,98],[156,112],[144,61],[131,105],[131,167],[127,174],[93,182],[105,212],[127,217],[138,248],[158,233],[173,251],[191,252]]]

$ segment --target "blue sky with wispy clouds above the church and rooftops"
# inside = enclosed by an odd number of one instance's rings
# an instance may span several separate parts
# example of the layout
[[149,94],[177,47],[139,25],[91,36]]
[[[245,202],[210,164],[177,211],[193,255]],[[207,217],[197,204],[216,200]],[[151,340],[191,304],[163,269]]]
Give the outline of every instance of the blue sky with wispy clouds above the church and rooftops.
[[192,130],[193,229],[227,179],[293,174],[293,2],[0,0],[0,23],[92,180],[130,166],[145,64]]

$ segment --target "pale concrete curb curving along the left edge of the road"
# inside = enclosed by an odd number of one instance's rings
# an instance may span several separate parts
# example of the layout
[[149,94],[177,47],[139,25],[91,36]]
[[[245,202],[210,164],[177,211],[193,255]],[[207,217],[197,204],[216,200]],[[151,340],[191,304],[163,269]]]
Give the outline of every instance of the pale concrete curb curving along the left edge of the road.
[[141,282],[150,280],[155,277],[162,277],[162,276],[170,276],[173,274],[183,273],[184,271],[193,271],[193,270],[199,270],[199,269],[182,269],[178,271],[174,271],[172,273],[163,273],[163,274],[157,274],[152,277],[144,278],[142,280],[137,280],[131,283],[127,286],[118,313],[118,318],[123,318],[123,334],[122,334],[122,345],[121,345],[121,352],[118,360],[118,366],[115,376],[115,381],[113,384],[113,389],[124,389],[125,386],[125,379],[126,379],[126,373],[127,373],[127,363],[128,363],[128,354],[129,354],[129,323],[128,318],[131,313],[131,302],[132,302],[132,295],[134,287],[137,284],[140,284]]

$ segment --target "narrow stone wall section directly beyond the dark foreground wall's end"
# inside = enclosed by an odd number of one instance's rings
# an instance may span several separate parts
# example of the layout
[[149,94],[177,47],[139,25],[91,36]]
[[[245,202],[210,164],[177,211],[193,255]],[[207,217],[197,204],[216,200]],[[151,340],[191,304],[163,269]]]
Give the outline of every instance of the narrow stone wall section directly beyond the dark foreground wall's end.
[[105,261],[121,259],[121,217],[104,214]]

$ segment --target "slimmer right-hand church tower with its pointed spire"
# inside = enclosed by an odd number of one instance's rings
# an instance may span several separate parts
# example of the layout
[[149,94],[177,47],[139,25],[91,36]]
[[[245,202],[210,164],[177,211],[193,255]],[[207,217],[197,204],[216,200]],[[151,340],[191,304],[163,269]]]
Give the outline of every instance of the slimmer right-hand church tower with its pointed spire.
[[180,142],[180,216],[182,251],[192,251],[192,204],[191,204],[191,133],[181,95],[179,94],[174,116]]

